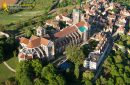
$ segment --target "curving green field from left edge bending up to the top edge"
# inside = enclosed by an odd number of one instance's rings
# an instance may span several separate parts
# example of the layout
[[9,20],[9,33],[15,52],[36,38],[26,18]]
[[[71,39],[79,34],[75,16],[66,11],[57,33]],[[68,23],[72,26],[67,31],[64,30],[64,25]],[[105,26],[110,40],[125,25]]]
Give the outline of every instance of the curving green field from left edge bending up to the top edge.
[[33,9],[23,10],[15,14],[2,14],[0,13],[0,24],[10,24],[18,21],[26,21],[34,16],[42,15],[50,9],[53,0],[36,0],[36,5]]

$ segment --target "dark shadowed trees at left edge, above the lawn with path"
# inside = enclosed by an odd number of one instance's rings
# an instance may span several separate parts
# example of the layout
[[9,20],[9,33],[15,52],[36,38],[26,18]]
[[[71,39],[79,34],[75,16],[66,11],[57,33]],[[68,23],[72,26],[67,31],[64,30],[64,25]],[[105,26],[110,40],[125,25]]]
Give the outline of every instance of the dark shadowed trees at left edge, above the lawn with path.
[[15,42],[15,38],[13,36],[8,38],[5,36],[1,36],[0,37],[0,63],[6,59],[9,59],[17,46],[18,43]]

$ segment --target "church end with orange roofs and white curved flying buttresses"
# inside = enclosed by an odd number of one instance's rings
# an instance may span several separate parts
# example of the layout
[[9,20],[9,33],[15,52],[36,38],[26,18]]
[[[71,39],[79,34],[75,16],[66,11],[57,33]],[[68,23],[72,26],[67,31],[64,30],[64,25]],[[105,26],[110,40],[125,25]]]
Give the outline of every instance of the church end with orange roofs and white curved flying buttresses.
[[33,58],[54,59],[54,43],[43,37],[31,36],[30,39],[21,37],[18,59],[19,61]]

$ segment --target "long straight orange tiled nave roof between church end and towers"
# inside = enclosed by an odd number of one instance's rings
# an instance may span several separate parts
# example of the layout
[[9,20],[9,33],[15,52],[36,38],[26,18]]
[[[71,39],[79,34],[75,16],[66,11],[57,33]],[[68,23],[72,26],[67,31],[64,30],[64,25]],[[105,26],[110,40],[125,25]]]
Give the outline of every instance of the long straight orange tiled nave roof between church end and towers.
[[66,35],[68,35],[70,33],[73,33],[75,31],[77,31],[75,26],[71,26],[71,27],[64,28],[60,32],[55,33],[54,36],[57,37],[57,38],[60,38],[60,37],[66,36]]

